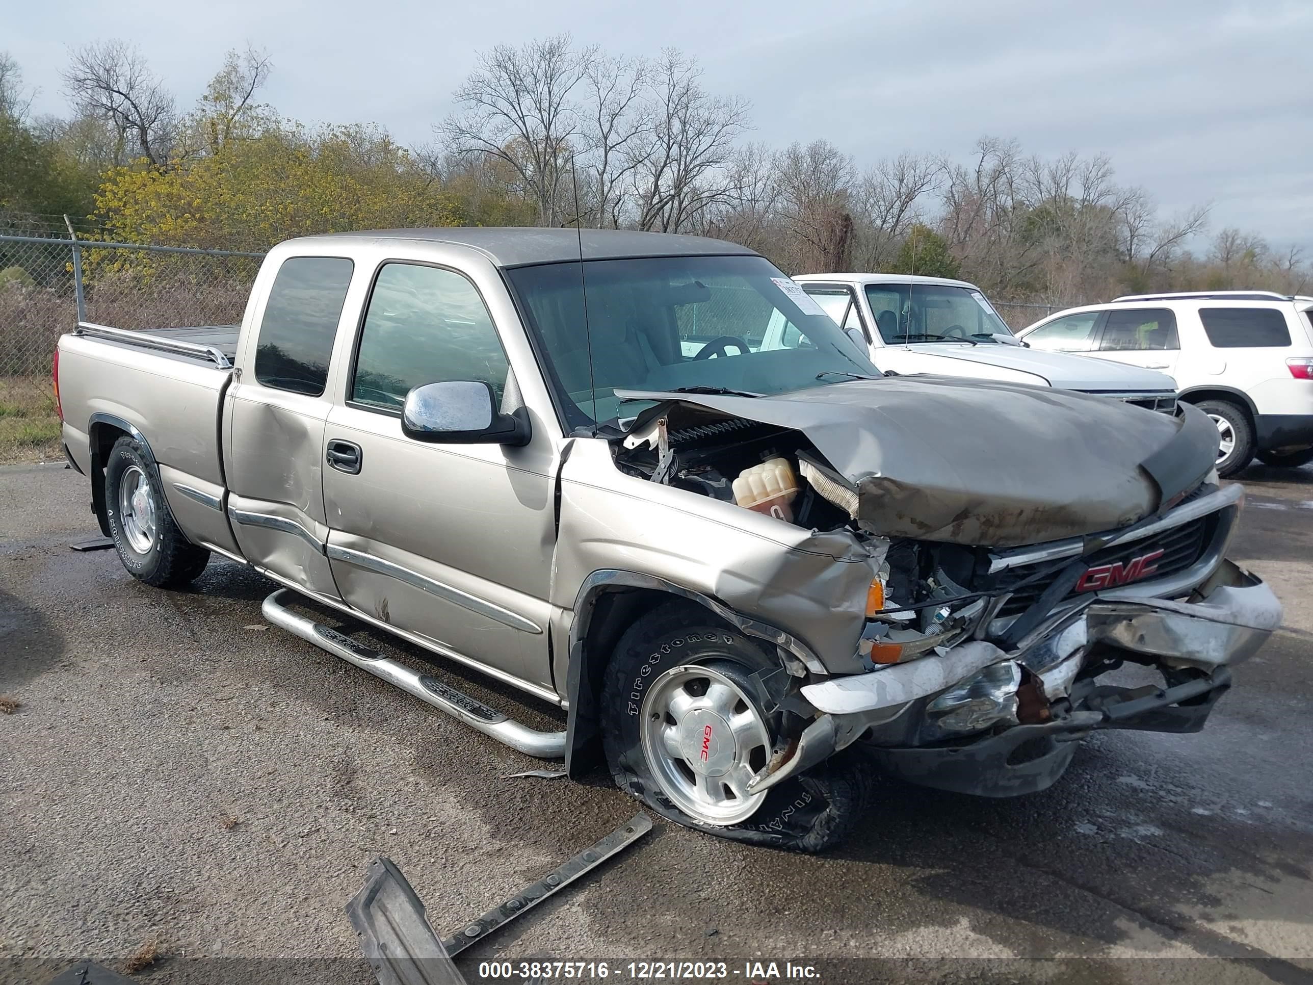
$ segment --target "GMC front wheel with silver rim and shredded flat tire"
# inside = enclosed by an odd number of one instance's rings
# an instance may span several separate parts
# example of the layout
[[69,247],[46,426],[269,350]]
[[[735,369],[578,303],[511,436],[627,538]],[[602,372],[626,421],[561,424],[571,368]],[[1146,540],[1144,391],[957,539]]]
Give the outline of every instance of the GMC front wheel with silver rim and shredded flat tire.
[[818,852],[850,831],[867,771],[840,755],[765,792],[747,781],[771,756],[781,713],[759,671],[776,663],[701,605],[672,603],[621,637],[603,684],[603,745],[616,784],[663,817],[754,844]]

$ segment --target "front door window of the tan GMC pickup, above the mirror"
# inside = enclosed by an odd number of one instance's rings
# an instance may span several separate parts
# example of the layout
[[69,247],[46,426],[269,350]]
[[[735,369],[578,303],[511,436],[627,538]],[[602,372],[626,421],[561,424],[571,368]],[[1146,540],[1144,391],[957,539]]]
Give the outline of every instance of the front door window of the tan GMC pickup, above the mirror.
[[454,271],[383,264],[369,297],[349,399],[399,412],[424,383],[478,380],[498,399],[509,364],[478,290]]

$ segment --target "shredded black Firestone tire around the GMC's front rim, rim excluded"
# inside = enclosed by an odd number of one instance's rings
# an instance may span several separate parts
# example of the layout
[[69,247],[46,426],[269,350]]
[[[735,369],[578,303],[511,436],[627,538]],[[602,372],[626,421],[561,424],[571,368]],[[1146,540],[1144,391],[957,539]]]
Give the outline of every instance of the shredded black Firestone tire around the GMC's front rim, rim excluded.
[[[701,605],[667,604],[638,619],[617,644],[603,682],[603,747],[616,785],[662,817],[718,838],[801,852],[822,852],[843,841],[865,812],[873,783],[871,767],[848,753],[767,791],[756,810],[737,823],[708,823],[671,800],[643,751],[643,692],[667,671],[689,666],[716,667],[746,682],[776,665]],[[773,735],[777,717],[765,718]]]

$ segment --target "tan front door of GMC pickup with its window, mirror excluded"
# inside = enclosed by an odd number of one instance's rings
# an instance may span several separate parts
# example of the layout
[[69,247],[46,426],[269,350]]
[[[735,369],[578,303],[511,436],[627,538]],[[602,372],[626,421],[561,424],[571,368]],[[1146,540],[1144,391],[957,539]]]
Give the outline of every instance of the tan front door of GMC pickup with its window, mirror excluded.
[[328,563],[353,608],[554,700],[548,649],[555,448],[429,444],[402,433],[406,394],[475,380],[503,410],[519,386],[475,284],[386,260],[323,433]]

